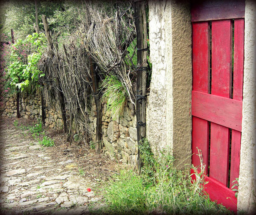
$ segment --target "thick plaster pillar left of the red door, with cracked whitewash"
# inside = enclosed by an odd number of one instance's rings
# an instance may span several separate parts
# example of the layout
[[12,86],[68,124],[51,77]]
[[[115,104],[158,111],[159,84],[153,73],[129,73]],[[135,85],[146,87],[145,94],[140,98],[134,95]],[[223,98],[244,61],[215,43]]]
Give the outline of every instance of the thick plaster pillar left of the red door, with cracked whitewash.
[[169,149],[176,163],[186,158],[183,164],[191,163],[190,5],[175,0],[150,0],[148,5],[152,79],[147,138],[155,153]]

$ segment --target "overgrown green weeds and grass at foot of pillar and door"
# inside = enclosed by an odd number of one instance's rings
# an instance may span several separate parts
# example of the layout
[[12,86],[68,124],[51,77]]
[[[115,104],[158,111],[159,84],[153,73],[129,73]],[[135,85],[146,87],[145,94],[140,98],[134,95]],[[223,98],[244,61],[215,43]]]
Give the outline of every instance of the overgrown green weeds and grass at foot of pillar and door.
[[202,190],[204,178],[197,175],[192,183],[189,174],[175,168],[174,158],[163,151],[154,158],[147,140],[141,143],[142,174],[129,169],[115,174],[105,189],[111,214],[230,214]]

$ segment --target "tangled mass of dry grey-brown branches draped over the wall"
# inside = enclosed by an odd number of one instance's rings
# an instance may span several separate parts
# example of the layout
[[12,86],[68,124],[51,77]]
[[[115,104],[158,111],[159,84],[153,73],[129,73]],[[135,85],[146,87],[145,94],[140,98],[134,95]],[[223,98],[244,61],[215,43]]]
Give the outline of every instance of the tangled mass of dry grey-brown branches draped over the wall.
[[42,81],[48,103],[57,97],[58,90],[64,95],[68,135],[75,131],[91,137],[89,57],[96,64],[98,80],[116,76],[126,88],[129,101],[135,105],[136,32],[129,2],[84,1],[78,10],[84,18],[77,31],[62,42],[55,38],[54,41],[59,42],[55,42],[52,49],[48,47],[39,66],[46,74]]

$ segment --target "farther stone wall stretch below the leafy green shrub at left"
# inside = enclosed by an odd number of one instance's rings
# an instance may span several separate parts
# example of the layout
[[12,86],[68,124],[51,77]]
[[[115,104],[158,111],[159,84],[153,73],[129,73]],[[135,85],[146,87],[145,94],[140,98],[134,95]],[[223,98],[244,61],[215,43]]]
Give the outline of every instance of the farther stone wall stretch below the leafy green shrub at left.
[[[16,117],[16,95],[14,96],[4,96],[3,98],[3,106],[0,106],[0,114],[3,116]],[[39,93],[35,93],[35,95],[20,95],[20,116],[25,119],[41,119],[42,111],[41,111],[41,97]],[[59,113],[58,104],[54,105],[50,108],[46,105],[45,108],[45,125],[49,126],[49,128],[62,128],[62,118],[61,113]]]

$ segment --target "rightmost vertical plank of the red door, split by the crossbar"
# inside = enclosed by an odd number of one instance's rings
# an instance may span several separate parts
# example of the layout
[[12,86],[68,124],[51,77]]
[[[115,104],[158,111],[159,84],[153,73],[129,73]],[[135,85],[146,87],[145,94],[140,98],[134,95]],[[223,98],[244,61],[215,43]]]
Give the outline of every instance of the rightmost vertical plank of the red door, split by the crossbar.
[[[243,74],[244,74],[244,19],[234,21],[234,82],[233,99],[243,100]],[[241,114],[242,116],[242,114]],[[239,177],[241,132],[232,131],[231,137],[231,164],[230,188],[233,180]],[[235,187],[237,189],[237,187]]]

